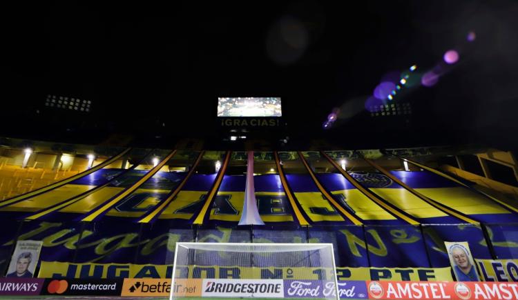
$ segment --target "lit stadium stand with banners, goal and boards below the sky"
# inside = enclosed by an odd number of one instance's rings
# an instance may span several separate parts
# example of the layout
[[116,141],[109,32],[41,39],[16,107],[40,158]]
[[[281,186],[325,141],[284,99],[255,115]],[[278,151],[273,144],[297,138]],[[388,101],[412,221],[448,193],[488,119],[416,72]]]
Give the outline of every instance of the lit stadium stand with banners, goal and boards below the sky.
[[[518,279],[517,188],[462,164],[479,159],[486,170],[488,162],[499,161],[516,174],[508,152],[1,142],[1,267],[6,279],[16,276],[8,272],[12,259],[21,260],[13,256],[15,246],[39,242],[29,259],[37,279],[29,280],[42,284],[41,294],[168,297],[176,272],[191,289],[182,297],[201,297],[200,280],[248,279],[283,283],[283,297],[327,298],[323,292],[332,288],[319,290],[318,284],[336,272],[343,298],[367,299],[365,282],[379,282],[385,291],[385,281],[454,282],[445,242],[469,247],[477,272],[461,280]],[[187,250],[176,264],[182,256],[177,243],[184,242],[198,252]],[[243,243],[268,247],[238,251]],[[319,256],[311,251],[325,244],[332,249]],[[88,284],[108,290],[81,290]],[[514,291],[499,289],[502,295]],[[405,292],[396,289],[392,297]]]

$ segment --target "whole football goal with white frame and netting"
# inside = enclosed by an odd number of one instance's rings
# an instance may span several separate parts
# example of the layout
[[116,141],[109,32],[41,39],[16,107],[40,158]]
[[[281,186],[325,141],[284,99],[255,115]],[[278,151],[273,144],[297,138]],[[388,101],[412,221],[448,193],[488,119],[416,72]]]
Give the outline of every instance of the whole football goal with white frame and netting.
[[172,299],[338,299],[331,243],[176,243]]

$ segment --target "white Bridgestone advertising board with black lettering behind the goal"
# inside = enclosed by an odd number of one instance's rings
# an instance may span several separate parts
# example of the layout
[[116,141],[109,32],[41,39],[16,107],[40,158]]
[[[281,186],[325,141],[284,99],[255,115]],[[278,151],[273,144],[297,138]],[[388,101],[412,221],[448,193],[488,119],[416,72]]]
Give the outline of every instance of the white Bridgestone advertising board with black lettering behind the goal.
[[280,279],[204,279],[202,296],[284,297]]

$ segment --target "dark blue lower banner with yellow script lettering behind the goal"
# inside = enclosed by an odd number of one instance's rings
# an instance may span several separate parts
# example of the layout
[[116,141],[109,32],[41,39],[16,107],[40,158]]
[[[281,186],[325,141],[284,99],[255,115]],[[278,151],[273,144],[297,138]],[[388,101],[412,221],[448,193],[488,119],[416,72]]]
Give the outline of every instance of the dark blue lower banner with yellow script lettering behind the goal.
[[[262,200],[258,199],[258,202]],[[8,222],[2,224],[10,228],[18,226]],[[24,222],[19,240],[42,241],[41,261],[72,261],[76,257],[77,263],[152,265],[172,264],[175,243],[193,241],[195,233],[199,242],[251,241],[249,228],[217,226],[200,228],[195,232],[192,228],[174,228],[172,226],[178,226],[178,223],[169,220],[157,220],[153,227],[146,224],[142,231],[137,223],[120,225],[119,219],[106,219],[82,227],[80,223],[71,221]],[[81,229],[84,229],[82,234]],[[443,268],[450,266],[444,241],[454,241],[453,238],[462,236],[469,241],[473,257],[491,259],[479,226],[423,226],[423,233],[415,226],[312,226],[309,230],[254,226],[253,242],[333,243],[337,267]],[[13,237],[0,237],[0,252],[10,257],[12,243],[15,243]],[[514,247],[514,244],[504,245],[501,239],[496,238],[494,244],[500,249]],[[81,246],[79,249],[78,245]]]

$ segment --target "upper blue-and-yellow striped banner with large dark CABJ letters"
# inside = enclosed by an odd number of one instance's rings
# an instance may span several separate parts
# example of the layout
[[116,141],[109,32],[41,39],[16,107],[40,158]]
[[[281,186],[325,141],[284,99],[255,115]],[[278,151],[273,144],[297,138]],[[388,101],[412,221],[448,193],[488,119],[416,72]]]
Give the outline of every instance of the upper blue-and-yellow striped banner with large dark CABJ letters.
[[[279,153],[282,160],[285,160],[282,158],[284,153],[289,152]],[[142,176],[145,176],[146,172],[146,170],[112,168],[97,170],[66,186],[38,195],[30,201],[19,201],[4,206],[0,208],[0,212],[5,212],[6,216],[11,217],[27,217],[28,212],[39,212],[38,218],[41,217],[42,219],[46,217],[60,219],[61,215],[66,218],[67,216],[70,217],[71,214],[86,214],[106,200],[111,199],[113,195],[121,192],[124,188],[132,186]],[[482,197],[480,194],[461,187],[437,174],[405,171],[392,171],[391,174],[416,192],[434,199],[444,206],[467,214],[476,221],[483,221],[484,223],[516,223],[518,221],[517,214],[510,213],[509,210],[495,201]],[[350,172],[350,175],[363,186],[395,206],[397,210],[412,215],[421,223],[459,223],[459,219],[421,201],[421,199],[394,183],[385,174]],[[185,176],[186,172],[157,172],[152,180],[146,181],[143,186],[131,194],[131,197],[117,203],[107,213],[107,216],[141,217],[146,212],[155,209],[160,201],[166,199],[169,192],[178,186]],[[177,195],[175,201],[171,201],[164,209],[159,219],[191,219],[193,213],[198,211],[199,206],[204,203],[202,197],[206,197],[209,190],[208,186],[211,186],[214,179],[215,174],[193,174]],[[339,203],[354,212],[356,217],[365,221],[366,224],[402,224],[401,220],[394,218],[387,210],[361,194],[351,183],[345,180],[342,174],[317,174],[317,179],[324,188],[336,197]],[[222,196],[222,199],[215,201],[214,210],[209,212],[209,219],[234,224],[240,221],[243,212],[245,180],[246,178],[242,175],[224,176],[222,188],[218,190],[218,195]],[[300,204],[300,208],[313,223],[347,223],[347,220],[340,217],[338,211],[321,197],[318,188],[312,183],[309,175],[287,174],[287,180],[296,196],[297,203]],[[289,210],[291,205],[286,199],[285,191],[279,185],[278,174],[261,174],[254,177],[253,181],[256,188],[256,198],[258,196],[273,196],[270,198],[274,200],[272,202],[268,199],[264,201],[258,199],[258,206],[260,206],[258,210],[262,221],[267,223],[293,221],[291,210]],[[105,184],[106,186],[104,186]],[[89,194],[90,192],[91,194]],[[88,194],[88,197],[85,193]],[[79,195],[84,198],[46,211],[50,206],[64,203],[64,201],[79,197]],[[234,201],[234,199],[240,200]],[[469,206],[465,205],[466,199],[472,199]],[[34,216],[31,217],[31,219],[34,218]]]

